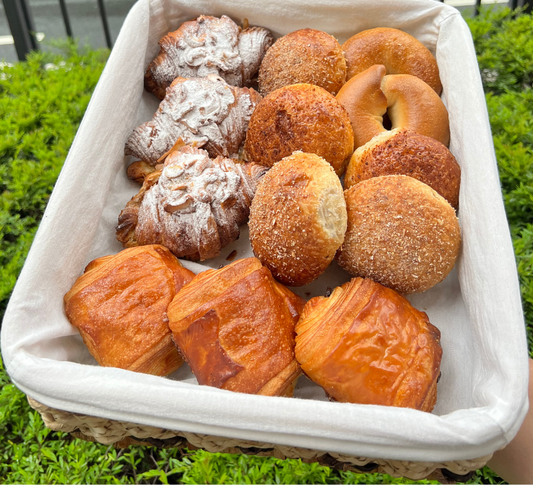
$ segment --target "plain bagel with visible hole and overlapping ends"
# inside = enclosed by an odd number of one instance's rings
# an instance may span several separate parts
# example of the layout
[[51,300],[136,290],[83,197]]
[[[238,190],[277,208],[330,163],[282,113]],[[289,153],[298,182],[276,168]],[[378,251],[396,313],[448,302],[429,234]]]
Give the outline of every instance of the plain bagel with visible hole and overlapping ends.
[[355,148],[386,131],[385,114],[392,129],[413,130],[448,146],[448,111],[438,94],[415,76],[385,73],[385,66],[372,66],[351,78],[337,94],[350,116]]

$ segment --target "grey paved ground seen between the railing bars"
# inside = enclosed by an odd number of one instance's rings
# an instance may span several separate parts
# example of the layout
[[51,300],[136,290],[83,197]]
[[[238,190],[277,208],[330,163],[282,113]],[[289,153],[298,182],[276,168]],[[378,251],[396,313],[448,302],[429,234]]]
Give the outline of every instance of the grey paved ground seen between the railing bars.
[[[65,26],[61,16],[58,0],[27,0],[32,11],[35,29],[44,34],[41,48],[48,49],[47,41],[65,37]],[[475,0],[445,0],[449,5],[461,11],[473,11],[470,5]],[[105,36],[102,21],[98,10],[97,0],[66,0],[70,23],[74,37],[80,40],[81,45],[91,45],[94,48],[105,47]],[[128,11],[135,0],[105,0],[111,37],[114,41]],[[507,0],[483,0],[483,3],[507,4]],[[0,3],[0,62],[16,62],[15,46],[10,42],[9,25],[4,13],[3,4]]]

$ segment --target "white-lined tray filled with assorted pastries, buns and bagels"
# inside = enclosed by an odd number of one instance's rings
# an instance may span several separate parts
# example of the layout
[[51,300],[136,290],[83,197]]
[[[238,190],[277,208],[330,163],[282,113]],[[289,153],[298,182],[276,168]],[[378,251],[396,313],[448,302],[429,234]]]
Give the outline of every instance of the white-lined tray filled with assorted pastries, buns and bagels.
[[30,397],[400,460],[512,438],[525,332],[468,28],[333,4],[135,5],[6,314]]

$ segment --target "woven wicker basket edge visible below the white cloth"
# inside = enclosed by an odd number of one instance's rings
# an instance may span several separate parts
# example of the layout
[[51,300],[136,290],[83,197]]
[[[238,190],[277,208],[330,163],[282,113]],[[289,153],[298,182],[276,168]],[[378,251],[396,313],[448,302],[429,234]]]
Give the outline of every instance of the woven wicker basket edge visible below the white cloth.
[[51,430],[70,433],[72,436],[86,441],[113,444],[119,448],[139,444],[160,448],[204,449],[213,453],[274,456],[281,459],[299,458],[306,463],[319,462],[322,465],[338,470],[388,473],[393,477],[406,477],[412,480],[430,478],[441,483],[468,480],[472,473],[485,466],[492,456],[491,454],[472,460],[446,462],[373,459],[221,436],[171,431],[154,428],[153,426],[60,411],[41,404],[30,397],[28,397],[28,402],[33,409],[41,414],[45,426]]

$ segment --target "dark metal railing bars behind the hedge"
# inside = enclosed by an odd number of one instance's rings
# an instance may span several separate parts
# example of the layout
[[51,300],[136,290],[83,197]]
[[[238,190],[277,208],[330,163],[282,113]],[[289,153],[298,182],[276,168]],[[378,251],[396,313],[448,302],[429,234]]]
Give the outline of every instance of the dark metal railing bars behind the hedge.
[[[65,0],[58,0],[61,9],[61,16],[63,17],[63,24],[67,37],[73,37],[72,27],[70,24],[70,18]],[[443,3],[448,3],[446,0],[439,0]],[[39,44],[36,38],[36,31],[27,0],[2,0],[4,4],[4,10],[6,13],[11,35],[13,36],[13,42],[17,51],[17,57],[19,60],[24,60],[26,55],[32,51],[39,49]],[[474,7],[474,15],[477,15],[481,7],[482,0],[472,0],[469,5]],[[104,37],[108,48],[113,47],[111,33],[109,30],[109,23],[107,19],[104,0],[97,0],[98,10],[102,21],[102,27],[104,31]],[[451,3],[451,2],[450,2]],[[523,8],[526,12],[531,12],[533,6],[533,0],[509,0],[508,6],[511,9],[518,7]]]

